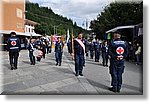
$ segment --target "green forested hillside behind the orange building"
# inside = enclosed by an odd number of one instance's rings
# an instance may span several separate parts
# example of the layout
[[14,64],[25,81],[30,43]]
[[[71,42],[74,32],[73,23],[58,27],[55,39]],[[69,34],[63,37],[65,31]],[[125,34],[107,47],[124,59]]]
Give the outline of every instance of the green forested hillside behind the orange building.
[[76,22],[73,23],[71,19],[55,14],[51,8],[41,7],[38,3],[26,3],[26,19],[39,23],[35,27],[35,32],[38,34],[64,35],[67,34],[68,29],[70,34],[85,32]]

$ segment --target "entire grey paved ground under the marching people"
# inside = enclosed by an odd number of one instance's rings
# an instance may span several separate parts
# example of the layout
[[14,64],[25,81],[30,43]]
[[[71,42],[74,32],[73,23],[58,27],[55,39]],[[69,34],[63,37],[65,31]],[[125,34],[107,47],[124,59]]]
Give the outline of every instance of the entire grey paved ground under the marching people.
[[[87,58],[84,77],[75,77],[71,56],[63,54],[62,66],[55,66],[54,52],[46,55],[35,66],[30,65],[28,51],[20,53],[17,70],[10,70],[8,52],[0,52],[2,69],[2,94],[142,94],[142,68],[126,63],[124,84],[121,93],[108,90],[108,68]],[[2,57],[1,57],[2,58]]]

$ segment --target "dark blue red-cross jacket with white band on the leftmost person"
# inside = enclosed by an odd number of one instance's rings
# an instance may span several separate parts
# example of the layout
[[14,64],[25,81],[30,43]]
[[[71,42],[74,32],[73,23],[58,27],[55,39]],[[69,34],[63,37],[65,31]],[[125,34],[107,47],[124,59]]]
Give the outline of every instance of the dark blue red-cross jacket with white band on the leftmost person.
[[19,38],[16,36],[12,36],[8,39],[7,43],[8,51],[20,51],[21,50],[21,43]]

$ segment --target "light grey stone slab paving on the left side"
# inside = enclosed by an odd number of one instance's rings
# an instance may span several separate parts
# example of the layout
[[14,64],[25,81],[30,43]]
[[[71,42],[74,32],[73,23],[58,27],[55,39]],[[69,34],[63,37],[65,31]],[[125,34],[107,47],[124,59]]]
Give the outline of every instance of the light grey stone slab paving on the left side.
[[74,75],[74,65],[63,55],[62,66],[55,65],[55,54],[46,55],[35,66],[30,65],[28,51],[20,53],[17,70],[10,70],[8,52],[1,52],[2,94],[98,94],[85,77]]

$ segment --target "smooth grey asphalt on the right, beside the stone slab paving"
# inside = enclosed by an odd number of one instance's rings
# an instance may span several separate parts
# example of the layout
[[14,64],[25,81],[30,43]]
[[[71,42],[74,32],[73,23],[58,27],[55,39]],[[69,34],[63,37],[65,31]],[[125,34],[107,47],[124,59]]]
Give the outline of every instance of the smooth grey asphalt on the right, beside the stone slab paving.
[[[65,53],[68,55],[68,53]],[[68,57],[70,59],[70,57]],[[123,74],[123,86],[119,94],[133,95],[143,93],[143,71],[142,66],[136,66],[133,62],[125,62],[125,71]],[[113,94],[108,90],[110,87],[109,68],[102,66],[102,58],[100,62],[94,62],[90,58],[86,58],[86,67],[84,68],[84,77],[97,90],[98,94]]]

